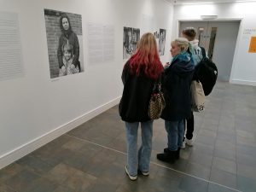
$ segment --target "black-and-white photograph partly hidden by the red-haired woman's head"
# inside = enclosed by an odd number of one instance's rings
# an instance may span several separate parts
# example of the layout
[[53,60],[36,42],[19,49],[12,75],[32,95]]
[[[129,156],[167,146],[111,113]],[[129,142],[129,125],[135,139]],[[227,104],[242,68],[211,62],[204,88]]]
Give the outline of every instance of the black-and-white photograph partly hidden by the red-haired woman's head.
[[140,29],[124,27],[123,59],[128,59],[135,52],[139,39]]

